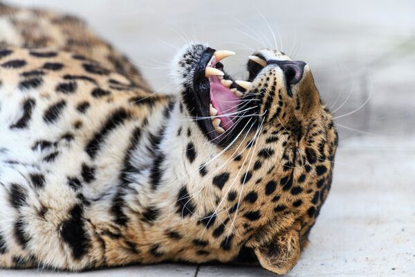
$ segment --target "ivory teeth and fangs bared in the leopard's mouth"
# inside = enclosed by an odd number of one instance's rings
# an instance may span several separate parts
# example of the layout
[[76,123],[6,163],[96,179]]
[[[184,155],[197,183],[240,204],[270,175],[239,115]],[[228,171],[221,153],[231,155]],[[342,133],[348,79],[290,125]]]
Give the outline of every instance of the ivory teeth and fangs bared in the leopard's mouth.
[[[215,51],[212,56],[212,59],[210,60],[210,62],[208,62],[208,66],[206,66],[205,77],[209,78],[210,76],[217,76],[219,80],[221,80],[223,87],[228,88],[230,91],[232,91],[232,93],[234,93],[235,96],[241,97],[243,96],[243,93],[241,91],[238,91],[236,88],[230,89],[230,86],[232,85],[233,81],[223,79],[223,75],[225,75],[225,73],[223,73],[219,69],[215,69],[214,67],[212,67],[212,61],[214,59],[216,59],[216,62],[219,62],[220,60],[223,60],[225,57],[229,57],[232,55],[235,55],[233,51],[228,51],[228,50]],[[257,62],[257,64],[260,64],[261,66],[266,66],[266,61],[262,60],[260,57],[249,56],[249,58],[253,62]],[[239,87],[243,87],[243,89],[246,89],[246,91],[248,91],[252,87],[252,82],[247,82],[243,80],[236,80],[234,82],[237,83]],[[210,116],[212,117],[212,125],[214,127],[214,130],[219,134],[222,134],[223,132],[225,132],[225,129],[223,129],[220,126],[221,120],[219,118],[214,118],[214,116],[218,114],[218,111],[213,107],[212,104],[210,104],[209,112],[210,112]]]

